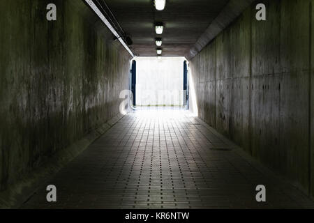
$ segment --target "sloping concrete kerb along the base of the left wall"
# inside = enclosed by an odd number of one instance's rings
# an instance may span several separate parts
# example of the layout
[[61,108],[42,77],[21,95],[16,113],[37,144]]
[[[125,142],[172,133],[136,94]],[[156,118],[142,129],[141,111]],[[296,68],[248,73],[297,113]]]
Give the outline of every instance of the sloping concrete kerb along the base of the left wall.
[[0,192],[0,208],[19,208],[22,203],[27,201],[36,192],[42,183],[52,178],[54,174],[57,174],[62,167],[77,157],[77,155],[80,155],[82,151],[88,148],[90,144],[107,132],[107,130],[123,117],[121,114],[114,116],[110,121],[101,125],[100,128],[97,128],[79,141],[54,154],[43,166],[34,169],[30,174],[27,174],[18,180],[17,183],[11,185],[7,190]]

